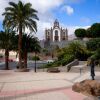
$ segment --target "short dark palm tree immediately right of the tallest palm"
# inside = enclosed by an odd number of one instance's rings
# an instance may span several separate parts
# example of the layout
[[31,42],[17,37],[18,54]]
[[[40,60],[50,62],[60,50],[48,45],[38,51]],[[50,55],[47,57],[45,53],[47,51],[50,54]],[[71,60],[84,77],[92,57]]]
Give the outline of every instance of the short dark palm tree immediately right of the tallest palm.
[[37,38],[32,35],[23,34],[22,36],[22,56],[24,60],[24,68],[27,69],[28,52],[40,52],[40,44]]

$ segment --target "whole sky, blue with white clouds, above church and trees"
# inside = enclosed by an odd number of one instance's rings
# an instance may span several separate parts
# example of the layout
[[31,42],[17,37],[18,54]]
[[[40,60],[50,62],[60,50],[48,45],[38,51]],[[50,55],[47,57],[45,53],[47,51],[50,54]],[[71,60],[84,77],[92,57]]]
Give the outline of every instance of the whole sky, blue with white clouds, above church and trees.
[[[4,8],[9,1],[0,0],[0,30]],[[60,26],[68,29],[68,35],[74,34],[77,28],[88,28],[93,23],[100,22],[100,0],[21,0],[24,3],[30,2],[32,7],[38,11],[38,31],[36,36],[42,40],[45,37],[45,29],[53,26],[55,19],[58,19]]]

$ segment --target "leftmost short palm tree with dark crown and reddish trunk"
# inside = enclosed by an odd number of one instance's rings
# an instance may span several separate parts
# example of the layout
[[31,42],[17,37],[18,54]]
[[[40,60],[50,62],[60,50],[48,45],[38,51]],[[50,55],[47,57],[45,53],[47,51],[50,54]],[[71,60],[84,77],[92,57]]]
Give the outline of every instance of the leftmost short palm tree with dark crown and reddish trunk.
[[9,51],[14,49],[13,41],[15,38],[15,32],[5,29],[0,31],[0,48],[5,50],[5,69],[8,70]]

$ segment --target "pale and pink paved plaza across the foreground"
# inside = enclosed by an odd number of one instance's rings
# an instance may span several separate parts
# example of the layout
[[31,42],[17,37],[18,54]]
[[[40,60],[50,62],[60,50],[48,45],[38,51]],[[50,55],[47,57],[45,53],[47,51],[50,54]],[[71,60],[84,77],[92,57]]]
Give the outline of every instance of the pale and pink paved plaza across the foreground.
[[[0,100],[83,100],[86,96],[72,91],[75,82],[90,79],[89,72],[47,73],[0,70]],[[100,72],[96,72],[99,81]]]

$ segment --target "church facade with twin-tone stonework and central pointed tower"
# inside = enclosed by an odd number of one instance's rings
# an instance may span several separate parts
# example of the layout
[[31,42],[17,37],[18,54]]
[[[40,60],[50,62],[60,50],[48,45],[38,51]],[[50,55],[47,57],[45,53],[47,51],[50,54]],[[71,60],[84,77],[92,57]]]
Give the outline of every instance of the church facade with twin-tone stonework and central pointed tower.
[[58,20],[54,21],[53,27],[45,29],[45,41],[62,42],[68,40],[68,30],[60,27]]

